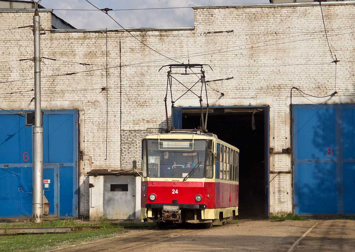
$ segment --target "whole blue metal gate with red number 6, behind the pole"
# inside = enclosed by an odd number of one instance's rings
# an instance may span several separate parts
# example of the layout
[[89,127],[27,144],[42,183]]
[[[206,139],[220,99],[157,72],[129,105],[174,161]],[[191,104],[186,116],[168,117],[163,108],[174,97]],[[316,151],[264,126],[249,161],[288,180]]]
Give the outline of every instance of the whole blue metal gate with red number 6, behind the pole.
[[[28,111],[26,111],[28,112]],[[77,216],[77,110],[43,111],[44,194],[50,215]],[[32,127],[26,113],[0,111],[0,217],[32,216]]]

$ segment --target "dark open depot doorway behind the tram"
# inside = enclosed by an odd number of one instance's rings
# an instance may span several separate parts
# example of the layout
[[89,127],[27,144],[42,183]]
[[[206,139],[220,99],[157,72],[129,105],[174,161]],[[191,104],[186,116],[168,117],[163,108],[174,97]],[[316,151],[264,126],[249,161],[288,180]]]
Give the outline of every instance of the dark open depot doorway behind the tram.
[[[264,109],[210,108],[207,130],[239,148],[239,219],[266,213]],[[255,129],[252,127],[254,113]],[[200,109],[182,109],[182,129],[200,126]],[[268,201],[267,201],[268,204]]]

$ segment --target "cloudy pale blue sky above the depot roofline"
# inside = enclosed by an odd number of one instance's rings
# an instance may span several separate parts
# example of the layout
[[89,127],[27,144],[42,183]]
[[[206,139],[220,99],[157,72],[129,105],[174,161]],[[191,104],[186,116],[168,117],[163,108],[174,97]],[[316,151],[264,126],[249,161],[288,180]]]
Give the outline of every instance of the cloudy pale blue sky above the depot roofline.
[[[37,1],[37,0],[36,0]],[[269,0],[88,0],[99,9],[109,8],[111,17],[122,27],[193,27],[196,5],[269,4]],[[42,0],[39,3],[77,29],[121,28],[104,12],[86,0]],[[127,10],[171,8],[160,10]],[[184,7],[184,8],[181,8]]]

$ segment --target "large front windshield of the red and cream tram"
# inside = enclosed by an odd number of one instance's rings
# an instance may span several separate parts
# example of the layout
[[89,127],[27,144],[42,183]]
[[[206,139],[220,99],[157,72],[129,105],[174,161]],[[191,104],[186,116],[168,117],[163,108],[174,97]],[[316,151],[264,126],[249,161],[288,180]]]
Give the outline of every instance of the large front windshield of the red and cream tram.
[[[144,145],[144,144],[143,144]],[[205,167],[212,167],[205,159],[206,140],[147,139],[146,175],[163,178],[202,178]],[[211,158],[208,158],[211,160]],[[144,165],[145,166],[145,165]]]

